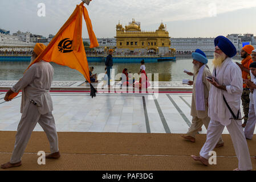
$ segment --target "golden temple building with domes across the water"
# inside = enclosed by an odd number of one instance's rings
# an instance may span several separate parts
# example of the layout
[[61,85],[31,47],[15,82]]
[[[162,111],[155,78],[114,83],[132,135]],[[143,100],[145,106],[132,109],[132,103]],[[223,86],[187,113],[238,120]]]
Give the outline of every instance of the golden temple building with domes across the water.
[[132,19],[125,28],[116,25],[116,52],[153,52],[166,54],[171,52],[169,32],[164,24],[160,24],[156,31],[141,31],[140,22]]

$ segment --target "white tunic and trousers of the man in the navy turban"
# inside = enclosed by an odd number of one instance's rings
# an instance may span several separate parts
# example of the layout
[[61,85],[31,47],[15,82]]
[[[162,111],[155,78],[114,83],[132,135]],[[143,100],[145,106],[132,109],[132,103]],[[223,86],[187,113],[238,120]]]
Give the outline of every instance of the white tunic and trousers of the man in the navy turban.
[[[214,71],[213,76],[215,77]],[[216,77],[220,85],[226,86],[227,91],[217,89],[215,86],[212,86],[210,89],[208,114],[211,121],[207,130],[206,142],[200,151],[200,155],[205,159],[209,159],[209,152],[214,150],[226,126],[238,158],[238,168],[245,171],[251,170],[251,159],[242,129],[242,120],[230,119],[233,116],[223,98],[224,95],[233,113],[237,115],[241,106],[241,95],[243,91],[241,69],[228,57],[222,63],[221,68],[216,69]]]

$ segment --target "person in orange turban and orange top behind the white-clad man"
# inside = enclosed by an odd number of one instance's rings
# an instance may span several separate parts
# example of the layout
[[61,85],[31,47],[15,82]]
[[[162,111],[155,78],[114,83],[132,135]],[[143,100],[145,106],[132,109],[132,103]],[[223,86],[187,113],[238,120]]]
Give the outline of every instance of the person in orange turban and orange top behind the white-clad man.
[[[241,57],[243,58],[241,64],[237,65],[241,68],[243,80],[250,80],[250,64],[253,63],[251,59],[251,52],[253,52],[254,47],[251,45],[246,45],[241,49]],[[249,114],[249,105],[250,105],[250,88],[243,84],[243,93],[242,93],[242,106],[243,106],[243,124],[242,127],[246,126]]]

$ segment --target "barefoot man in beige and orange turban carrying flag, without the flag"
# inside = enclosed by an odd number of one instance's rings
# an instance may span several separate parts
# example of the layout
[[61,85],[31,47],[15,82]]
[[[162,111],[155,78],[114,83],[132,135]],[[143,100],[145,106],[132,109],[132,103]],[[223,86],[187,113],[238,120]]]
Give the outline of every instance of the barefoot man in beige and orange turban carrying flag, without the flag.
[[[36,59],[46,48],[44,44],[36,44],[32,52],[31,62]],[[5,96],[5,101],[11,100],[11,94],[19,93],[22,90],[21,101],[21,121],[19,122],[15,146],[11,160],[2,164],[1,168],[11,168],[21,166],[21,158],[29,142],[30,136],[36,123],[42,126],[50,142],[51,154],[46,158],[58,159],[60,157],[58,147],[58,135],[55,121],[52,115],[52,100],[50,88],[54,68],[46,61],[40,60],[33,64],[21,80],[17,82]]]

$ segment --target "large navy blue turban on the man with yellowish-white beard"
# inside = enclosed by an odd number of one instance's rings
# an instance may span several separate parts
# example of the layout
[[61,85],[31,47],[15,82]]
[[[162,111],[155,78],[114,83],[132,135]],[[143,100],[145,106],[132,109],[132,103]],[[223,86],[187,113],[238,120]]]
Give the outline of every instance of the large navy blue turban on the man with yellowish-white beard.
[[225,36],[218,36],[214,39],[215,46],[218,46],[228,57],[234,57],[237,54],[237,48]]

